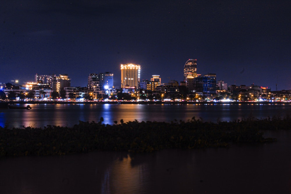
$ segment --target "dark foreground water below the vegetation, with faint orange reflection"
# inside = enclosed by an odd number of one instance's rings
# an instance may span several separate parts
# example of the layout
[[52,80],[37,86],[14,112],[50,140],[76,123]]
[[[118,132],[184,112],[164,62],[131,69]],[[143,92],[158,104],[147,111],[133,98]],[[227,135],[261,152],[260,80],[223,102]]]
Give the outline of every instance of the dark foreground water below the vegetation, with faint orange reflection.
[[278,142],[0,159],[0,193],[290,193],[291,132],[267,136]]

